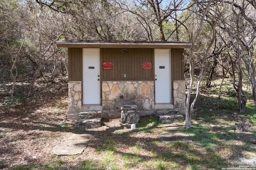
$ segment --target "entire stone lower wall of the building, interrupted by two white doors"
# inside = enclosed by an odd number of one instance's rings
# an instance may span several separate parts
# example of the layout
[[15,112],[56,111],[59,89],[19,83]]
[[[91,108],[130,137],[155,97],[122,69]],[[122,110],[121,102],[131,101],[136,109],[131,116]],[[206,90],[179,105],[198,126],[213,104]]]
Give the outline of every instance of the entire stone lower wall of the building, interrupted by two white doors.
[[[173,81],[174,108],[186,109],[185,80]],[[102,117],[121,117],[121,106],[137,105],[140,116],[154,113],[154,81],[103,81]],[[82,109],[82,82],[68,82],[68,119],[78,120]]]

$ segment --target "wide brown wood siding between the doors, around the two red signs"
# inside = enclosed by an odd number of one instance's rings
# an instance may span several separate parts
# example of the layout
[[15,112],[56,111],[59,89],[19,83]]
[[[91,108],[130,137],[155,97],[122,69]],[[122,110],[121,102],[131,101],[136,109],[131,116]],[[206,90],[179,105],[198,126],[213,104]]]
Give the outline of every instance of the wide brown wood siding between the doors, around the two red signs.
[[[100,49],[101,80],[154,80],[153,49]],[[112,63],[111,70],[104,70],[103,63]],[[152,68],[144,70],[143,63],[151,63]],[[124,78],[126,74],[126,78]]]

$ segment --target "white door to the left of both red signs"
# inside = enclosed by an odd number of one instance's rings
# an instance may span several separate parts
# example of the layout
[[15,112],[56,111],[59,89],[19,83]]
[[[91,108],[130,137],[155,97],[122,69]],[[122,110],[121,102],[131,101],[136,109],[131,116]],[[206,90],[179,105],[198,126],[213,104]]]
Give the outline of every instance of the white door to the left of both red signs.
[[84,104],[100,104],[100,49],[83,49]]

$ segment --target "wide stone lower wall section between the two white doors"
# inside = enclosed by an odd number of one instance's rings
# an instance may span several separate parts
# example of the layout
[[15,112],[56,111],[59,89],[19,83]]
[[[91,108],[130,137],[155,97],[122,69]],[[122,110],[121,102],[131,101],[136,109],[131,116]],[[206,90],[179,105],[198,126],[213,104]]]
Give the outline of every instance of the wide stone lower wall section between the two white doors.
[[103,81],[102,117],[121,117],[121,106],[137,105],[138,110],[154,110],[154,81]]

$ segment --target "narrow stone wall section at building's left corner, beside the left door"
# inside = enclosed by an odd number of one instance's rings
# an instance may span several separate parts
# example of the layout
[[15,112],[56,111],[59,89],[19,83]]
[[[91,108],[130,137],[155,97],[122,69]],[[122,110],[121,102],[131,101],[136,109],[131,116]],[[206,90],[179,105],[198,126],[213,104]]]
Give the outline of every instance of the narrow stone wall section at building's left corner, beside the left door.
[[68,82],[68,119],[77,120],[82,108],[82,82]]

